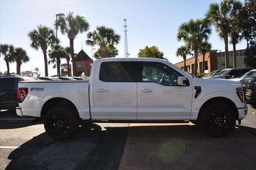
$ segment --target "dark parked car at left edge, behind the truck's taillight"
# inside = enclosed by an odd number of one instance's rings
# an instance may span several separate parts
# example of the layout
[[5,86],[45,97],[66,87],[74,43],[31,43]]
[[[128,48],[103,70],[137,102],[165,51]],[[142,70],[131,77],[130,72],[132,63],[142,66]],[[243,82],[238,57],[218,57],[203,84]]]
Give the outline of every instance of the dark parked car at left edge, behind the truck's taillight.
[[0,78],[0,110],[15,109],[18,107],[17,88],[20,81],[40,80],[34,77],[4,76]]

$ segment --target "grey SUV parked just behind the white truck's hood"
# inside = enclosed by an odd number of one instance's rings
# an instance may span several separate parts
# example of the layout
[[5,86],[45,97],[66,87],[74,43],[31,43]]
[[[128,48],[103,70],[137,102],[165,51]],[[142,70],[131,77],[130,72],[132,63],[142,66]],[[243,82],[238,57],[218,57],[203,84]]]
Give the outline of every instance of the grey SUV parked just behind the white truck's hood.
[[245,73],[253,70],[254,68],[244,67],[244,68],[228,68],[224,69],[212,77],[204,77],[204,78],[222,78],[222,79],[230,79],[230,78],[240,78]]

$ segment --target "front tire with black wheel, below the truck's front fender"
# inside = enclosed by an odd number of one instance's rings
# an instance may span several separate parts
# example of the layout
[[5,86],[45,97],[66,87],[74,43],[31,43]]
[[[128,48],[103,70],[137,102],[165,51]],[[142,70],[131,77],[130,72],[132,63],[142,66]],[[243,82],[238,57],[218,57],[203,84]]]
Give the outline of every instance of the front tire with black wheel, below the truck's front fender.
[[234,110],[227,104],[213,103],[204,108],[199,118],[200,128],[211,137],[228,136],[236,125]]

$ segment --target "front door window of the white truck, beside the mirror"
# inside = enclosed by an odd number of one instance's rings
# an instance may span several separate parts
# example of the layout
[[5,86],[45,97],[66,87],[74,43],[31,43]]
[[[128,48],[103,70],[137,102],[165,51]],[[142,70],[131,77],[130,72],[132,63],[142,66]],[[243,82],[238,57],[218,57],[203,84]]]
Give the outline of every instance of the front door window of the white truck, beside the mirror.
[[178,86],[178,76],[182,76],[176,70],[159,62],[140,62],[138,70],[138,82],[155,82],[164,86]]

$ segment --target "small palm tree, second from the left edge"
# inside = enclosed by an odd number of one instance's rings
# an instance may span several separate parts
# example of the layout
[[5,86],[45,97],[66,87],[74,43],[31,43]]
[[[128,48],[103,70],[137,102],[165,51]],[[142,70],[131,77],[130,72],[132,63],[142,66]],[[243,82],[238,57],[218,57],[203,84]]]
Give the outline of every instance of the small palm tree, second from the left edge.
[[28,57],[26,50],[24,50],[21,47],[14,49],[13,58],[14,58],[14,61],[16,61],[17,74],[20,75],[21,64],[28,62],[30,60],[30,58]]

